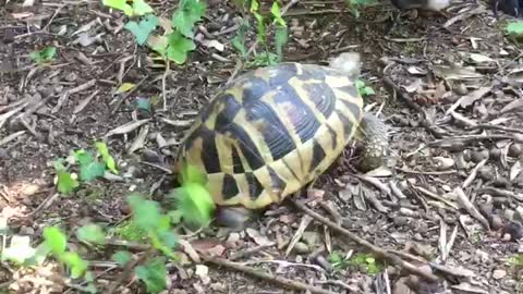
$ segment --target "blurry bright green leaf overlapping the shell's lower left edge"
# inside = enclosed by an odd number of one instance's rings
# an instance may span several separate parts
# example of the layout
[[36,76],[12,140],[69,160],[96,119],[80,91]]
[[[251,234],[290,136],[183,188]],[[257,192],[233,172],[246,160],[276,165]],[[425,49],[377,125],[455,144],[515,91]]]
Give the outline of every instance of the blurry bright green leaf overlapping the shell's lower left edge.
[[177,196],[183,219],[191,224],[208,225],[215,210],[215,203],[204,185],[185,183]]

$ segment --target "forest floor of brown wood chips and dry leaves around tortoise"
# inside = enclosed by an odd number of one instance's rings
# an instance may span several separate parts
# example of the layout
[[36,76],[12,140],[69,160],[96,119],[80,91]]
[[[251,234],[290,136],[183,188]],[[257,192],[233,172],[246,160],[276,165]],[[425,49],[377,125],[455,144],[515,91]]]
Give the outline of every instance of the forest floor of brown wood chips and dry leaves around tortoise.
[[[161,167],[240,60],[231,46],[239,14],[226,1],[208,1],[198,28],[212,42],[198,45],[186,65],[171,65],[167,75],[122,28],[125,17],[100,1],[20,2],[0,10],[0,219],[9,226],[2,248],[13,234],[38,244],[47,225],[118,226],[132,192],[160,199],[173,183]],[[166,15],[175,7],[151,3]],[[169,267],[169,293],[301,293],[197,262],[203,249],[325,291],[318,293],[523,293],[523,53],[504,36],[508,16],[497,20],[483,2],[457,1],[447,19],[404,13],[392,26],[399,12],[388,2],[361,8],[357,19],[342,3],[291,7],[284,60],[325,64],[340,52],[361,52],[361,78],[375,90],[365,102],[390,126],[392,154],[373,174],[348,176],[340,168],[323,174],[304,193],[314,198],[308,207],[440,280],[384,264],[285,201],[242,232],[181,228],[188,243]],[[57,48],[56,59],[35,64],[29,53],[46,46]],[[115,93],[122,83],[136,87]],[[136,109],[144,99],[153,112]],[[145,123],[106,136],[144,115]],[[93,150],[97,139],[107,143],[120,175],[59,195],[52,162]],[[93,248],[74,236],[69,245],[92,261],[100,293],[114,283],[123,293],[144,293],[110,258],[125,245]],[[0,268],[9,292],[76,293],[84,285],[58,279],[53,262]]]

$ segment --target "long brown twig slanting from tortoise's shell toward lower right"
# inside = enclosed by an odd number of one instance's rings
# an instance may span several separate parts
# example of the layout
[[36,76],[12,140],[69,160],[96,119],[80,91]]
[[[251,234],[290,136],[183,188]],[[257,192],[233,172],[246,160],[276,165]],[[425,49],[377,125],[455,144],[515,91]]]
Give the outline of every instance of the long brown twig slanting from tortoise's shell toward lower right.
[[351,233],[346,229],[331,222],[327,218],[321,217],[320,215],[318,215],[315,211],[313,211],[312,209],[307,208],[304,204],[297,201],[296,199],[291,199],[291,201],[303,212],[307,213],[308,216],[311,216],[312,218],[321,222],[323,224],[328,225],[330,229],[332,229],[333,231],[337,231],[338,233],[344,235],[345,237],[350,238],[351,241],[354,241],[358,245],[369,249],[370,252],[373,252],[374,255],[376,255],[378,257],[381,257],[381,258],[385,258],[385,259],[388,259],[392,264],[408,270],[411,273],[417,274],[417,275],[419,275],[419,277],[428,280],[428,281],[437,281],[438,280],[437,275],[435,275],[433,273],[424,272],[424,271],[419,270],[418,268],[416,268],[415,266],[413,266],[412,264],[406,262],[406,261],[402,260],[401,258],[399,258],[394,255],[390,255],[387,250],[381,249],[380,247],[378,247],[378,246],[358,237],[357,235]]

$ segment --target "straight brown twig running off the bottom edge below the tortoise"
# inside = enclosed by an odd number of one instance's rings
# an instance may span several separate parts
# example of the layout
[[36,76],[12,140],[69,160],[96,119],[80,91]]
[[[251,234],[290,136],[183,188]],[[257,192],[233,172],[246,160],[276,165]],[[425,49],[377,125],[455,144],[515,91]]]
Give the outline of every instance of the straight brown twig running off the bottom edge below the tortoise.
[[200,257],[202,259],[205,260],[205,262],[212,264],[218,267],[223,267],[231,270],[240,271],[248,275],[252,275],[254,278],[272,282],[285,289],[292,289],[296,291],[308,291],[309,293],[318,293],[318,294],[333,294],[333,292],[324,290],[321,287],[308,285],[299,281],[294,281],[294,280],[281,278],[281,277],[276,277],[270,273],[262,272],[258,269],[242,266],[238,262],[232,262],[223,258],[210,257],[208,255],[200,255]]

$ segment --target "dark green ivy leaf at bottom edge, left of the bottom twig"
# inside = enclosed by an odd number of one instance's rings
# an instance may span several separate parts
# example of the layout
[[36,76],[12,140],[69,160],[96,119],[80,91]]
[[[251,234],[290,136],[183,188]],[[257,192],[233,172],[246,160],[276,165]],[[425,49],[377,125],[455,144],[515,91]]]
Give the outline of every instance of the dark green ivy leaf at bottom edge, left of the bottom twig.
[[167,287],[166,260],[161,257],[136,267],[134,272],[145,283],[149,293],[159,293]]

